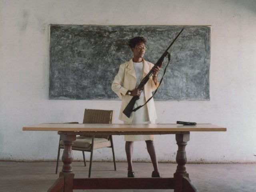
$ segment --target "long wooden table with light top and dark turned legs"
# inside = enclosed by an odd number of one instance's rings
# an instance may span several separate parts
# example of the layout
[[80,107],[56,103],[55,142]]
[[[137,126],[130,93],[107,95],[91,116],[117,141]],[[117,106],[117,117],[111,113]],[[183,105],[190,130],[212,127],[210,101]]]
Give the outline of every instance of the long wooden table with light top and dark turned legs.
[[[64,141],[63,167],[48,192],[73,192],[74,189],[174,189],[174,192],[197,192],[186,172],[186,144],[192,131],[226,131],[212,124],[184,126],[177,124],[38,124],[23,127],[25,131],[58,131]],[[175,134],[178,145],[174,178],[74,178],[72,144],[76,135]]]

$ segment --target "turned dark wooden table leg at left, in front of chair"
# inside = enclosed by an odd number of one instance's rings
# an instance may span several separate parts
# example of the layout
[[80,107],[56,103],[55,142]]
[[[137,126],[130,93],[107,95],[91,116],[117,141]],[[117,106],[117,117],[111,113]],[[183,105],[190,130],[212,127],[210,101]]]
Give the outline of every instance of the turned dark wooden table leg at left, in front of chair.
[[48,192],[73,192],[74,173],[72,172],[72,145],[73,141],[76,140],[76,135],[60,133],[60,139],[64,142],[62,172],[60,172],[58,180],[50,187]]

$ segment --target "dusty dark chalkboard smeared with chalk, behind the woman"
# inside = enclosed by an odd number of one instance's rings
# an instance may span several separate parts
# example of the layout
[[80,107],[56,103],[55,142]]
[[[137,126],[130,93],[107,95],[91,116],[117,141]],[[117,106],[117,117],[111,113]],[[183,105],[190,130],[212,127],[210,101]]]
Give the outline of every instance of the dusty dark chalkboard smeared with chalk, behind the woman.
[[156,63],[182,28],[170,49],[171,62],[154,99],[210,100],[209,26],[55,24],[50,25],[49,98],[117,100],[111,84],[120,64],[132,58],[128,40],[146,38],[144,58]]

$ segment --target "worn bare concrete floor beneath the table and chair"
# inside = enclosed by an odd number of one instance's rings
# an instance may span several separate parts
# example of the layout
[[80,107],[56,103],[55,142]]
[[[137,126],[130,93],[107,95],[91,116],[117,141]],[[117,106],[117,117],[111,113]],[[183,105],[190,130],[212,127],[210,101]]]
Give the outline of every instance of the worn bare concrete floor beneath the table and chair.
[[[58,178],[56,162],[1,162],[0,192],[46,192]],[[59,170],[61,170],[60,162]],[[176,164],[159,164],[163,177],[173,177]],[[126,177],[126,163],[93,162],[92,177]],[[134,163],[136,177],[150,177],[152,164]],[[256,164],[186,164],[199,192],[256,192]],[[73,162],[75,178],[88,176],[88,165]],[[167,192],[173,190],[74,190],[75,192]]]

